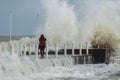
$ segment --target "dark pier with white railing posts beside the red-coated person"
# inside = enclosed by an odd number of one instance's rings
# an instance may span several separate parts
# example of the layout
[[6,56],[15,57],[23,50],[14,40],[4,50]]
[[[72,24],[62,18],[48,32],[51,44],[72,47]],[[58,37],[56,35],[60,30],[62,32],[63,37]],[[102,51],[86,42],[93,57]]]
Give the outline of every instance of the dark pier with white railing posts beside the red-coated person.
[[[108,48],[88,48],[88,43],[86,44],[86,48],[82,48],[82,43],[79,44],[79,49],[74,48],[74,44],[72,43],[72,49],[68,49],[66,44],[64,45],[64,49],[59,48],[58,44],[55,44],[54,50],[50,50],[49,46],[46,47],[45,50],[45,58],[49,58],[49,56],[54,55],[55,58],[59,58],[60,55],[71,56],[73,58],[74,64],[94,64],[94,63],[109,63],[109,58],[106,57],[108,53]],[[38,49],[38,45],[35,45],[34,52],[31,51],[31,44],[26,47],[26,44],[23,47],[20,47],[20,55],[35,55],[36,59],[40,56],[40,51]]]

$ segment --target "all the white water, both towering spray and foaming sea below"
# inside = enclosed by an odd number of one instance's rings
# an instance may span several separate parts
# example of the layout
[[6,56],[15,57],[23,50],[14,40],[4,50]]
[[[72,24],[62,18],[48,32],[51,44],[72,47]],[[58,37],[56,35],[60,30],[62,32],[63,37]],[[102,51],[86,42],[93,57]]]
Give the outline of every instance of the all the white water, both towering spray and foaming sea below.
[[[41,4],[47,16],[45,36],[48,44],[66,41],[68,44],[74,41],[104,44],[109,40],[110,46],[119,48],[119,0],[76,0],[72,4],[74,7],[66,0],[41,0]],[[0,80],[101,80],[120,72],[117,58],[109,65],[73,65],[71,57],[65,56],[38,60],[35,56],[19,56],[19,44],[29,42],[37,44],[36,39],[29,38],[12,41],[13,55],[9,42],[0,43]]]

